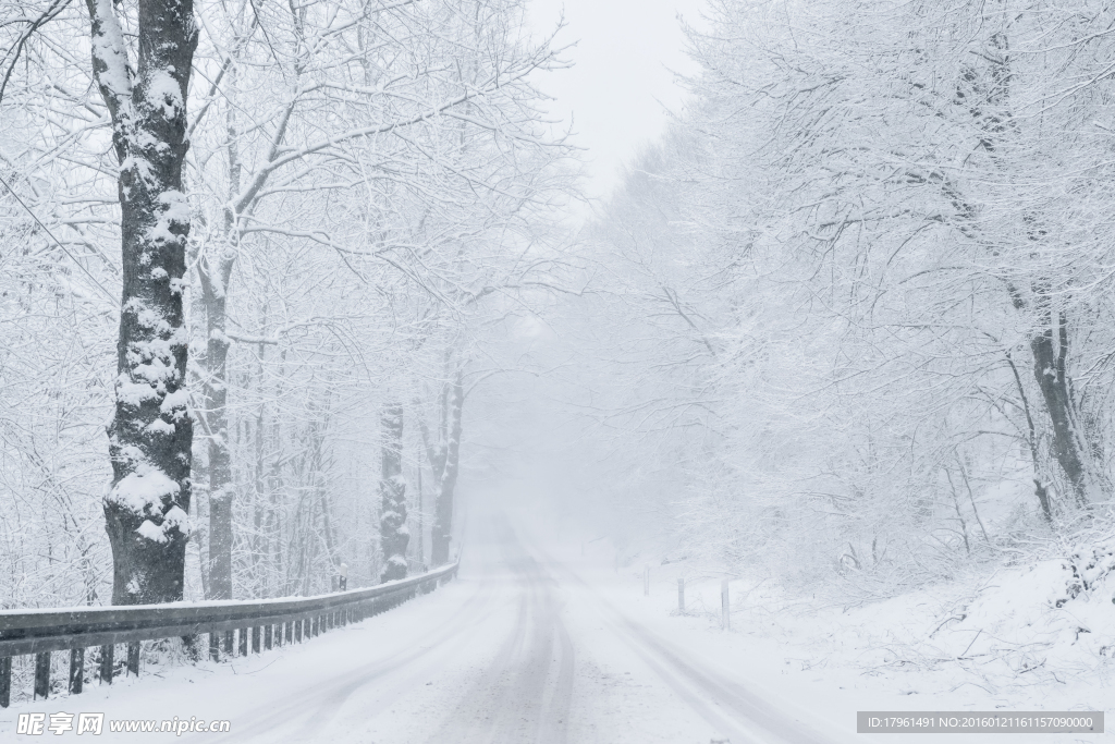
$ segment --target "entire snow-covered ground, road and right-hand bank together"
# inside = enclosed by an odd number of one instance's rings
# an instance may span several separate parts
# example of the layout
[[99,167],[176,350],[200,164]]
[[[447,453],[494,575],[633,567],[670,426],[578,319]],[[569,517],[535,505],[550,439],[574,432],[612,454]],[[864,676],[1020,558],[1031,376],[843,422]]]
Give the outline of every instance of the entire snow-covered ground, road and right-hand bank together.
[[[1082,667],[1060,685],[1036,674],[1032,684],[1007,685],[1019,678],[1007,674],[1022,658],[1018,649],[1004,655],[1001,669],[992,661],[1004,644],[1024,640],[1005,632],[1018,627],[1011,613],[1045,624],[1028,637],[1053,637],[1054,649],[1067,642],[1068,616],[1041,611],[1048,598],[1032,590],[1049,584],[1040,572],[1055,572],[1054,566],[1002,577],[982,601],[969,602],[963,619],[937,632],[929,632],[931,624],[959,607],[959,598],[943,591],[849,612],[776,613],[737,581],[734,627],[724,631],[714,577],[690,578],[688,611],[677,611],[677,578],[691,570],[683,563],[652,566],[643,596],[643,566],[619,566],[604,541],[551,540],[524,515],[493,504],[476,505],[468,524],[459,580],[432,595],[302,645],[230,664],[148,668],[112,687],[90,685],[80,696],[13,706],[0,714],[0,733],[14,741],[56,738],[13,736],[18,715],[97,712],[106,721],[231,724],[226,735],[186,733],[187,741],[838,743],[863,738],[855,733],[856,711],[1103,709],[1109,697],[1106,682],[1095,684],[1106,680],[1096,669]],[[1083,635],[1094,636],[1093,645],[1103,635],[1095,629],[1109,620],[1109,608],[1093,601],[1101,593],[1055,608],[1068,607],[1080,625],[1090,624],[1093,632]],[[956,657],[971,664],[946,663]],[[996,674],[1002,678],[988,683]],[[112,733],[106,724],[97,738],[176,737]],[[1007,738],[1113,737],[996,741]]]

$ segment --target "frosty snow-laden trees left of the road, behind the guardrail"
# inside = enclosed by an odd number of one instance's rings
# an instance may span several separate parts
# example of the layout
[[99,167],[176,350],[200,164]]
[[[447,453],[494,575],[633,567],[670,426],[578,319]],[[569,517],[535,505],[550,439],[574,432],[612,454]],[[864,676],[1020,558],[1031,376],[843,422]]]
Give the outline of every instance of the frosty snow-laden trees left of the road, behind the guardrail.
[[570,191],[523,3],[0,11],[2,605],[448,561],[478,349]]

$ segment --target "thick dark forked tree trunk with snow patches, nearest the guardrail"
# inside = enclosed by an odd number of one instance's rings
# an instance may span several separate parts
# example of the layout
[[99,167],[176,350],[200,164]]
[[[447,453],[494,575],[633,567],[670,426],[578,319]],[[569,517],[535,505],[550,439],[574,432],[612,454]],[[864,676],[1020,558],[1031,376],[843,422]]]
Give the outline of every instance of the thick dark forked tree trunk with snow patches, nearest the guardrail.
[[197,33],[192,0],[139,0],[133,68],[113,0],[86,0],[93,68],[120,165],[124,281],[113,481],[105,521],[113,602],[182,599],[193,431],[182,289],[190,210],[182,193],[186,94]]

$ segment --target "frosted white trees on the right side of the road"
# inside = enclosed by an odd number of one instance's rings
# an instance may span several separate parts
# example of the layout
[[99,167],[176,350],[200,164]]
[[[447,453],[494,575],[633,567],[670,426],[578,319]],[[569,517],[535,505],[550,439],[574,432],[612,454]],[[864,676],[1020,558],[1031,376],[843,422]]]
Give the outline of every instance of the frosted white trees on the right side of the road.
[[709,8],[586,239],[615,497],[857,597],[1108,538],[1115,9]]

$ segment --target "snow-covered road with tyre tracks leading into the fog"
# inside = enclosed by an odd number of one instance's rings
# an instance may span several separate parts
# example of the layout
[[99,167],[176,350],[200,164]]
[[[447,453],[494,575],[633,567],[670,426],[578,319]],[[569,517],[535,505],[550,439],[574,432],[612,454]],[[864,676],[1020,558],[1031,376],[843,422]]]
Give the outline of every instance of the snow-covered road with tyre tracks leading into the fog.
[[[231,734],[182,740],[230,743],[846,741],[672,645],[574,566],[527,548],[502,512],[478,516],[459,580],[396,610],[303,645],[163,679],[147,668],[110,690],[8,715],[229,719]],[[106,731],[100,741],[152,737],[172,735]]]

